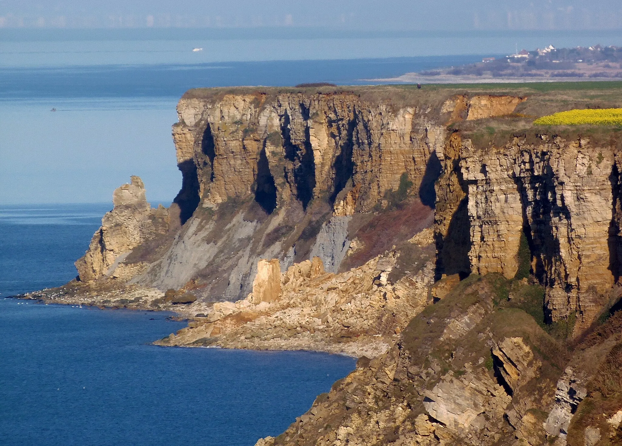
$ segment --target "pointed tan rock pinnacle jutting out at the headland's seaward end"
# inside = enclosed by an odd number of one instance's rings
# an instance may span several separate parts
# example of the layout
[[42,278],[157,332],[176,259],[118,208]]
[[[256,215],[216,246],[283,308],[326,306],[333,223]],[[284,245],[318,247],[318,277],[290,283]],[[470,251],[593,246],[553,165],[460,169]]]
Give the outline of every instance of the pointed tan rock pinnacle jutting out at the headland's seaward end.
[[143,266],[128,267],[123,259],[139,244],[169,230],[169,211],[162,205],[152,208],[147,203],[139,177],[132,176],[130,184],[114,190],[113,205],[101,220],[88,251],[75,263],[80,281],[134,276]]

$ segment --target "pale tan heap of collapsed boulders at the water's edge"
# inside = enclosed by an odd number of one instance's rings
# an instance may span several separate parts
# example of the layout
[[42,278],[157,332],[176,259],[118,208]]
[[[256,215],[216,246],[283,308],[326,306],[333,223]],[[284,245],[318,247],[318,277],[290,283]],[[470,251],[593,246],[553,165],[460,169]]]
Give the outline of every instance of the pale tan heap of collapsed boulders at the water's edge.
[[[388,252],[341,274],[324,272],[318,258],[294,264],[281,275],[278,299],[257,303],[253,292],[234,304],[216,303],[198,325],[157,343],[379,356],[412,316],[432,303],[428,298],[431,264],[396,283],[376,280],[390,272],[396,261],[397,254]],[[256,283],[264,284],[267,274],[276,277],[278,266],[262,262],[258,269],[263,272]],[[228,305],[226,310],[223,305]]]

